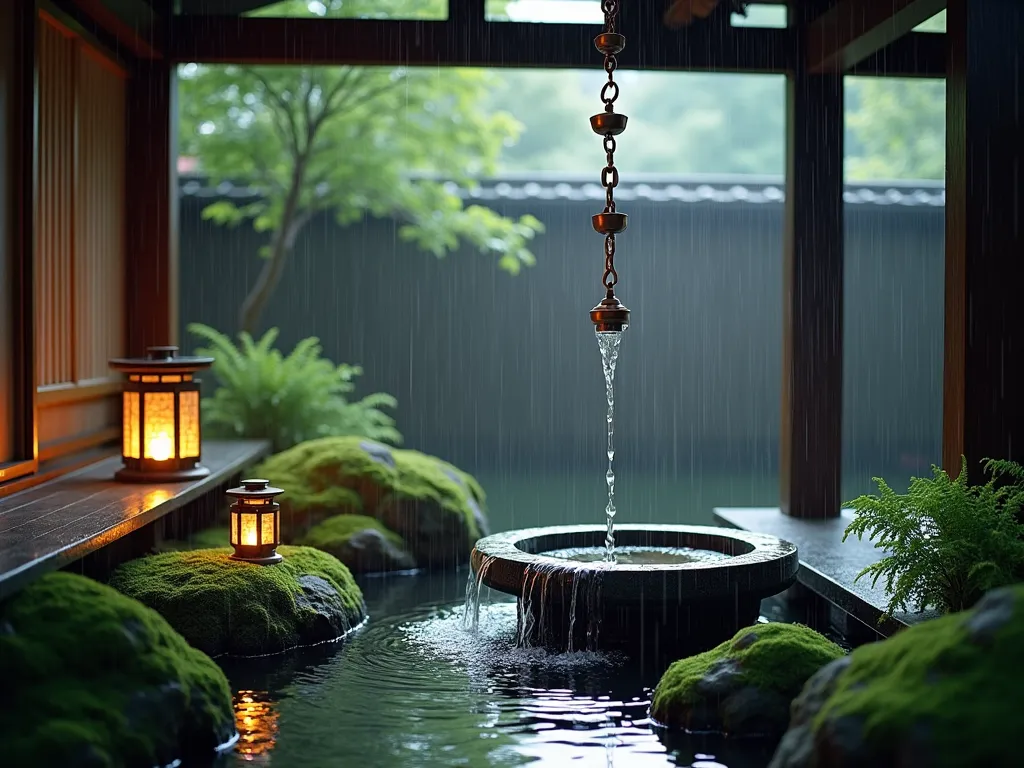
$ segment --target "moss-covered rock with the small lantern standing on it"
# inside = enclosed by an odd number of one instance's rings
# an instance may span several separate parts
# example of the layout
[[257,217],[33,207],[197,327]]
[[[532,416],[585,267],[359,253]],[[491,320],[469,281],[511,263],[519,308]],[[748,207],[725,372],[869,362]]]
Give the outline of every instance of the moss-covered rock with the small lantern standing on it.
[[211,655],[261,655],[335,640],[366,617],[351,572],[308,547],[279,547],[276,565],[228,559],[229,549],[131,560],[111,586],[163,615]]

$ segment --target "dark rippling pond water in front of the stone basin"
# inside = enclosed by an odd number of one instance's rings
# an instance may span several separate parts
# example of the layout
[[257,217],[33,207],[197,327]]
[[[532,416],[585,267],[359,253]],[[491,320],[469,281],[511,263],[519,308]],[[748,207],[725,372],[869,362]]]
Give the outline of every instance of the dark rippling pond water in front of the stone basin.
[[[467,571],[362,580],[371,621],[345,643],[220,659],[242,738],[218,768],[764,768],[770,750],[668,734],[647,720],[658,672],[513,647],[493,593],[462,629]],[[773,618],[784,616],[766,601]]]

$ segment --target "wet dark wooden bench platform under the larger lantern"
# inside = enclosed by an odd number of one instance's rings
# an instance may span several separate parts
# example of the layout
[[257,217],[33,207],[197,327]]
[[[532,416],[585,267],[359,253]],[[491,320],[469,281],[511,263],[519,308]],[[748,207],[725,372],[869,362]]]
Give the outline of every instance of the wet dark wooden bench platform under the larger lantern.
[[143,554],[139,550],[153,543],[151,523],[204,500],[222,506],[224,487],[269,450],[265,440],[205,441],[207,477],[159,484],[115,482],[118,456],[0,499],[0,599],[83,558],[80,569],[88,571],[87,556],[95,561],[100,550],[129,539],[133,546],[122,547],[126,556],[128,550]]

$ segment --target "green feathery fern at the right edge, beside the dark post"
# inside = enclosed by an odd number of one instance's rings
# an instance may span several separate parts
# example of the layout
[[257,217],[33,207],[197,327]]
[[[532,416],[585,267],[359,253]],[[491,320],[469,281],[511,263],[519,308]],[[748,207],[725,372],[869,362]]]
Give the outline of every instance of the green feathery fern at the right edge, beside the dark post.
[[932,477],[911,478],[905,495],[876,477],[879,496],[846,505],[857,516],[843,541],[866,535],[889,553],[857,575],[871,577],[872,586],[885,579],[887,614],[908,606],[964,610],[1024,572],[1024,524],[1018,520],[1024,467],[988,460],[985,471],[991,475],[985,484],[970,485],[966,459],[955,480],[933,467]]

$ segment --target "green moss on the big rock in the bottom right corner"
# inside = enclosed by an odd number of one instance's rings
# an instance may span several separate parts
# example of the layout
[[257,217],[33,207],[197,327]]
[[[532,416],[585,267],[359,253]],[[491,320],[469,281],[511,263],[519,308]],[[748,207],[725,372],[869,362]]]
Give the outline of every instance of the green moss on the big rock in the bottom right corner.
[[1024,585],[1009,591],[1012,618],[983,640],[969,626],[975,609],[857,648],[815,729],[854,716],[863,722],[865,741],[885,745],[927,727],[936,765],[1006,765],[1024,690]]

